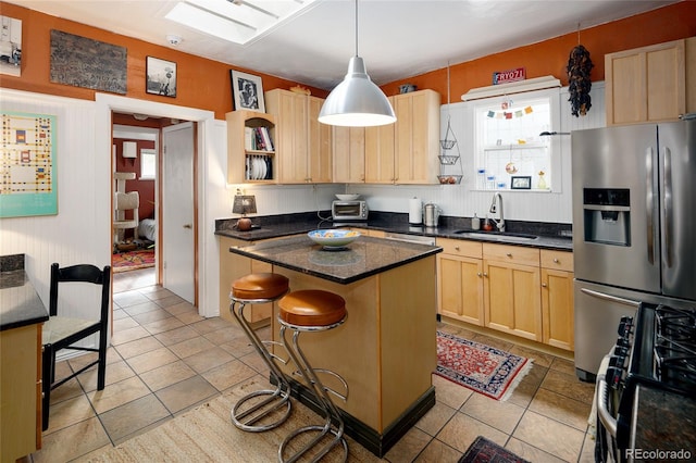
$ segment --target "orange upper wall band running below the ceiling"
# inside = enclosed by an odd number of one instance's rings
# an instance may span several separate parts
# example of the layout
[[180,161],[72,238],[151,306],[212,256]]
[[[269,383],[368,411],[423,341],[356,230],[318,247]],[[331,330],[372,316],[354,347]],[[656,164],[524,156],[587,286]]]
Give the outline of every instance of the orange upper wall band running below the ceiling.
[[[53,84],[49,80],[50,30],[60,29],[126,47],[127,97],[214,111],[215,117],[221,120],[232,110],[229,71],[233,66],[228,64],[48,16],[10,3],[0,2],[0,8],[2,15],[22,20],[24,32],[22,76],[0,75],[0,87],[94,100],[95,90]],[[605,53],[692,36],[696,36],[696,1],[682,1],[580,32],[581,42],[589,50],[591,59],[595,64],[592,72],[593,80],[604,80]],[[453,64],[450,66],[450,100],[451,102],[461,101],[461,95],[469,89],[492,85],[494,72],[515,67],[525,67],[527,78],[554,75],[567,85],[568,57],[576,45],[577,33],[572,33],[539,43]],[[175,99],[145,92],[145,60],[148,55],[177,63],[178,84]],[[297,84],[253,70],[240,68],[240,71],[261,75],[264,90],[289,88]],[[446,68],[386,84],[382,89],[386,95],[396,95],[398,86],[407,82],[419,88],[432,88],[438,91],[443,97],[443,103],[447,102]],[[312,87],[310,89],[312,95],[319,97],[327,95],[325,90]]]

